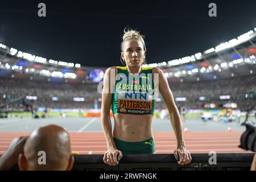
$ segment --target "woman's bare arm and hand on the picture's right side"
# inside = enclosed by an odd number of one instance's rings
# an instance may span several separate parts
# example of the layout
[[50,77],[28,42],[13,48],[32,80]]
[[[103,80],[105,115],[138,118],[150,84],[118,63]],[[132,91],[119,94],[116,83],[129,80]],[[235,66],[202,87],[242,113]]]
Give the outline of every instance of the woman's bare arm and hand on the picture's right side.
[[178,163],[181,165],[188,164],[191,162],[191,154],[185,147],[179,110],[175,105],[174,96],[172,95],[167,78],[159,68],[153,68],[152,73],[154,75],[155,90],[156,92],[159,90],[163,97],[176,136],[177,150],[174,151],[175,158],[179,156],[180,160]]

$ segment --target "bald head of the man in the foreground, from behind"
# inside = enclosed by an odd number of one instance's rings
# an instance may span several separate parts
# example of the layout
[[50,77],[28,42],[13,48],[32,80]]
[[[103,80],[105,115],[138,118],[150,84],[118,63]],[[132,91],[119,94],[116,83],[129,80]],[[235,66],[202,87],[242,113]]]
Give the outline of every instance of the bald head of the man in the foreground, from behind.
[[49,125],[32,132],[18,159],[20,170],[71,170],[74,158],[68,132]]

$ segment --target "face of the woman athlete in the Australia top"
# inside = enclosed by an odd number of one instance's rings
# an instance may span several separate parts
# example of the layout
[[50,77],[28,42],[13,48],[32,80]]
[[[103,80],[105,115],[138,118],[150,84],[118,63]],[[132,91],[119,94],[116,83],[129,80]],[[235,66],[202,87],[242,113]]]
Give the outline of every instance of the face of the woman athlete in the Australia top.
[[123,42],[122,59],[129,67],[139,67],[145,59],[145,51],[141,40],[127,40]]

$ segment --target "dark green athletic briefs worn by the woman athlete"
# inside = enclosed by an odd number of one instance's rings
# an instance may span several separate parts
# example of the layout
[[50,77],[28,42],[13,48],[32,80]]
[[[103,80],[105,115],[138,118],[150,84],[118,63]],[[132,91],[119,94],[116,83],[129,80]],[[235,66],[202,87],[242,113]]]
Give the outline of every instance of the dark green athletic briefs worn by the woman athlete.
[[113,138],[115,146],[123,154],[154,154],[155,143],[154,138],[141,141],[141,142],[126,142]]

